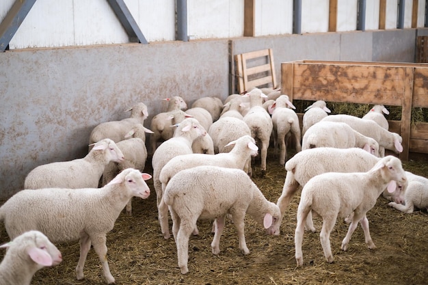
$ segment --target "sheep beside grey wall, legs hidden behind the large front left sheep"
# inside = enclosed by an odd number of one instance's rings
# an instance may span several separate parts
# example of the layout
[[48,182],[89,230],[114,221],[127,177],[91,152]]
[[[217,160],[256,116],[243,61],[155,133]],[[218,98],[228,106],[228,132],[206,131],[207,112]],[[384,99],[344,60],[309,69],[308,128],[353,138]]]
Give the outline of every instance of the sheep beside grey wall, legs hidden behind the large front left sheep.
[[102,139],[82,159],[48,163],[34,168],[25,178],[24,188],[97,188],[110,161],[120,163],[124,161],[124,155],[113,140]]

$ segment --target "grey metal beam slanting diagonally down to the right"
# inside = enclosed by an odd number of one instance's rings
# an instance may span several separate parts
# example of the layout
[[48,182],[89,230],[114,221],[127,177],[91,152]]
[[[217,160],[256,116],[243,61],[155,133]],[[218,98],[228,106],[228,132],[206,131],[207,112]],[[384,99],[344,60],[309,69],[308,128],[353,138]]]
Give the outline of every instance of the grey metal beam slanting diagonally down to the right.
[[142,44],[148,44],[142,31],[139,29],[137,22],[135,22],[131,12],[123,0],[107,0],[114,14],[118,17],[120,23],[124,27],[126,33],[129,36],[130,42],[139,42]]

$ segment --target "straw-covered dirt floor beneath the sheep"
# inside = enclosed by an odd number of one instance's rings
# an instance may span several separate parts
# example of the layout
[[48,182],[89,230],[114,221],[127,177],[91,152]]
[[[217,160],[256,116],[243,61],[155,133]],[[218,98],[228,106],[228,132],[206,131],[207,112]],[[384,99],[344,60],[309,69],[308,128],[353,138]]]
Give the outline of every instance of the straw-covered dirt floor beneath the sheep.
[[[276,202],[286,175],[283,166],[269,148],[267,175],[254,167],[254,182],[268,200]],[[428,176],[428,163],[407,161],[405,170]],[[150,163],[146,171],[152,173]],[[215,179],[215,178],[213,178]],[[155,189],[148,200],[134,198],[133,216],[120,215],[107,234],[109,265],[116,284],[428,284],[428,214],[401,213],[380,197],[369,213],[371,236],[377,249],[368,249],[362,228],[353,233],[349,249],[340,249],[347,224],[338,220],[330,240],[334,263],[325,262],[319,233],[304,234],[304,266],[296,268],[294,231],[297,194],[282,221],[280,236],[268,236],[263,227],[247,217],[245,237],[250,254],[239,252],[235,227],[230,221],[220,240],[221,252],[211,254],[212,221],[198,221],[199,236],[189,241],[189,273],[182,275],[177,266],[174,239],[165,240],[157,221]],[[299,191],[297,192],[299,193]],[[321,219],[315,219],[321,229]],[[3,225],[0,243],[8,241]],[[77,241],[59,245],[63,262],[44,268],[31,284],[105,284],[101,264],[93,249],[85,263],[84,280],[76,280],[79,259]],[[0,251],[0,258],[4,252]]]

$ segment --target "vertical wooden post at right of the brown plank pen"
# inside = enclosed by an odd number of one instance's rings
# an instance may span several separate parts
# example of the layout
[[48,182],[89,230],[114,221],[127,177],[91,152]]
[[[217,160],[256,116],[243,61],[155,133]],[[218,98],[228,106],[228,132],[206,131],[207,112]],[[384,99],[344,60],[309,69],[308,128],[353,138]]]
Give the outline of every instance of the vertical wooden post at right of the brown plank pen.
[[413,74],[414,68],[405,68],[405,86],[403,96],[403,106],[401,112],[401,137],[403,137],[403,152],[400,159],[407,161],[409,158],[409,141],[410,141],[410,123],[412,116],[412,98],[413,98]]

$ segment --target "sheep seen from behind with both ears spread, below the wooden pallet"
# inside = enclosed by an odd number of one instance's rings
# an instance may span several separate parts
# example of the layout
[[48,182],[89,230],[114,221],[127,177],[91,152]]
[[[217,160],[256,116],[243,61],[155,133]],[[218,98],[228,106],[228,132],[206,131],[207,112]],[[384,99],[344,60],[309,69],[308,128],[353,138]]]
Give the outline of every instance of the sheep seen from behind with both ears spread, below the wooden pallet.
[[260,144],[260,159],[262,175],[266,174],[267,148],[272,133],[272,119],[263,108],[263,98],[266,97],[259,89],[254,88],[245,94],[250,96],[250,111],[244,116],[243,121],[250,127],[251,135]]

